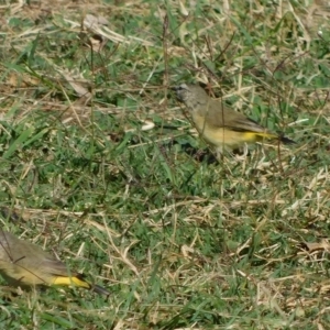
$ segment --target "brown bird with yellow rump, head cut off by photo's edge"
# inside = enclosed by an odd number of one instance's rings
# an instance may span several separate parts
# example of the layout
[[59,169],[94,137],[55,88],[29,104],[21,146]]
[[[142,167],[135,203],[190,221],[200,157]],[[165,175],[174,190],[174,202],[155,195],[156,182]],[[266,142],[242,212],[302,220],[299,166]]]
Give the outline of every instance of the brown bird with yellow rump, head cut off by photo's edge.
[[81,274],[70,273],[63,262],[40,246],[3,230],[0,230],[0,274],[12,285],[21,287],[73,285],[110,295],[107,289],[86,282]]

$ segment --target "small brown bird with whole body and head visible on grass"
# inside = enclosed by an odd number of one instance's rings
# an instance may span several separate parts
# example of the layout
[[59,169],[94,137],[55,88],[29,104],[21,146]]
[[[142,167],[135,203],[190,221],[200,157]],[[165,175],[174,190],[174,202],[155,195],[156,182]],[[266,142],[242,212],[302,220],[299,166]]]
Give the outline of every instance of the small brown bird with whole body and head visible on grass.
[[288,138],[267,131],[254,120],[209,97],[198,85],[182,84],[173,90],[177,99],[190,110],[199,134],[220,153],[223,147],[237,148],[245,142],[265,139],[276,139],[286,144],[295,143]]

